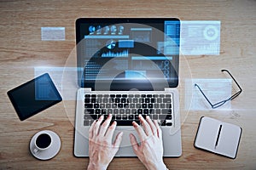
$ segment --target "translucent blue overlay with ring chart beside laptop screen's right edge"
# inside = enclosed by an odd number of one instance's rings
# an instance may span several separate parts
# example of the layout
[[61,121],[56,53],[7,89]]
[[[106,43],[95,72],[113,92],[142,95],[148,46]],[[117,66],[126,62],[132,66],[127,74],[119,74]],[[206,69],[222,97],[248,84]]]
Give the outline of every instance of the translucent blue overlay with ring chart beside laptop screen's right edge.
[[219,20],[182,20],[181,51],[184,55],[219,55]]

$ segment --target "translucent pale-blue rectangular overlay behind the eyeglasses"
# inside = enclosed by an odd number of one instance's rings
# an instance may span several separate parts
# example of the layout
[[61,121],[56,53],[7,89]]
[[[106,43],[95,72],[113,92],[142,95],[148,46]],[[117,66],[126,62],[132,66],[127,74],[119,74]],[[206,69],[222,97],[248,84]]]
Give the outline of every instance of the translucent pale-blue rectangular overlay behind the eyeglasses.
[[[207,95],[207,98],[215,104],[223,99],[229,99],[232,91],[232,79],[187,79],[186,80],[186,109],[190,111],[209,111],[213,110],[207,99],[201,94],[200,90],[195,87],[198,84],[201,90]],[[191,85],[193,88],[191,88]],[[191,104],[191,105],[189,105]],[[230,110],[231,102],[214,110]]]

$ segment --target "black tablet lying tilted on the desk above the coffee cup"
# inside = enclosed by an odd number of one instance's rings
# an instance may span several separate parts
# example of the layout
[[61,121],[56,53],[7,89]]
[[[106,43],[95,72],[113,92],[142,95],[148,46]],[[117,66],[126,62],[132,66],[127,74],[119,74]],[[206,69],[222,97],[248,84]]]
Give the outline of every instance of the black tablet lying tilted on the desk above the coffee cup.
[[62,100],[48,73],[7,92],[20,121],[44,111]]

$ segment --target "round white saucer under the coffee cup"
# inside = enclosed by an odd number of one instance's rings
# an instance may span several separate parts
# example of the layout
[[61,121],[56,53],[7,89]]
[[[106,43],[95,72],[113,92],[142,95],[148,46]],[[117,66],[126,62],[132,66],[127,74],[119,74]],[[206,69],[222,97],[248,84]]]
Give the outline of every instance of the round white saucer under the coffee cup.
[[[38,154],[34,154],[32,150],[33,150],[33,146],[35,143],[35,139],[41,133],[49,133],[52,137],[52,144],[48,150],[40,151]],[[61,139],[58,136],[58,134],[56,134],[55,132],[52,132],[49,130],[40,131],[32,137],[32,139],[30,141],[29,148],[30,148],[30,152],[32,153],[32,156],[38,158],[39,160],[49,160],[49,159],[53,158],[54,156],[56,156],[58,154],[58,152],[60,151]]]

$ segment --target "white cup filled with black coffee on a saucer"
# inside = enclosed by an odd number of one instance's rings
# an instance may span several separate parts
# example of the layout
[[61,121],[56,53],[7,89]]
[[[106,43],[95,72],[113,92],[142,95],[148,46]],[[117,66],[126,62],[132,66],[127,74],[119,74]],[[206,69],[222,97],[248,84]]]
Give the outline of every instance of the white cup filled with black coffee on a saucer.
[[45,150],[49,150],[52,145],[52,136],[48,132],[38,133],[33,143],[32,152],[35,155],[38,155]]

